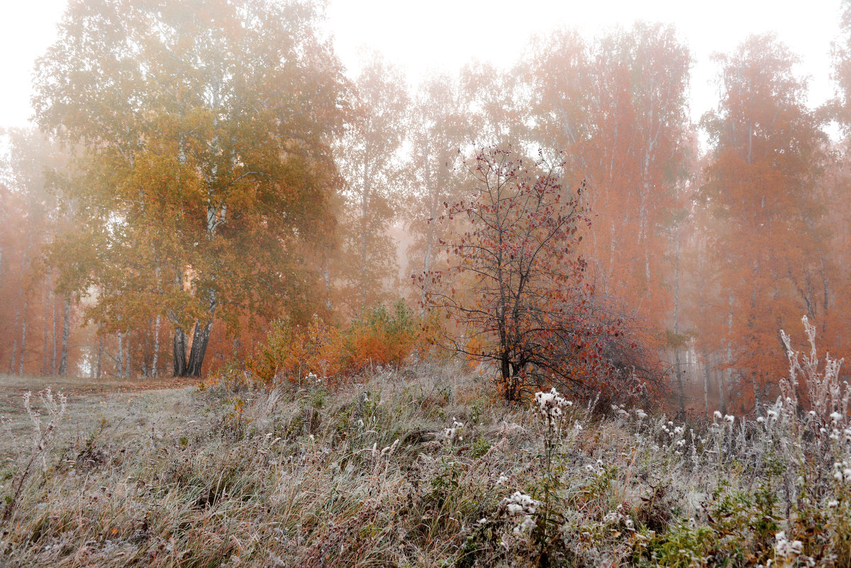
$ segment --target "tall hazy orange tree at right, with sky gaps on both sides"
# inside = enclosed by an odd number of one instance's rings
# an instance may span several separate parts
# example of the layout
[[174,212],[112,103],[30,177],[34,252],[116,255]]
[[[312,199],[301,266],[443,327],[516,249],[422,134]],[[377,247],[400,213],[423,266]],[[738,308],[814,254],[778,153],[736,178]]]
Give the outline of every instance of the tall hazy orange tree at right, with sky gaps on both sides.
[[714,148],[699,192],[709,217],[705,293],[715,309],[695,323],[721,361],[722,406],[735,393],[731,402],[744,410],[777,394],[780,329],[828,310],[825,204],[813,190],[826,139],[794,57],[774,37],[751,37],[720,61],[722,98],[703,119]]

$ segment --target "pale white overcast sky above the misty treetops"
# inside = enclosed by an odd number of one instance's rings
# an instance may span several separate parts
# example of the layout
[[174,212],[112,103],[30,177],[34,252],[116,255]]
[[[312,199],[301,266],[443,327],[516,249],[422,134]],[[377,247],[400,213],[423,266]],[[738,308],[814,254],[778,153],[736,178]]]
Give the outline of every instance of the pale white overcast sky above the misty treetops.
[[[54,41],[66,0],[0,0],[0,127],[25,126],[34,60]],[[428,71],[456,71],[472,58],[510,65],[528,37],[576,27],[592,37],[634,20],[674,24],[692,49],[692,116],[715,103],[709,57],[728,52],[751,33],[776,31],[802,60],[810,104],[833,94],[831,41],[839,0],[330,0],[328,31],[343,63],[357,70],[362,48],[403,65],[411,82]]]

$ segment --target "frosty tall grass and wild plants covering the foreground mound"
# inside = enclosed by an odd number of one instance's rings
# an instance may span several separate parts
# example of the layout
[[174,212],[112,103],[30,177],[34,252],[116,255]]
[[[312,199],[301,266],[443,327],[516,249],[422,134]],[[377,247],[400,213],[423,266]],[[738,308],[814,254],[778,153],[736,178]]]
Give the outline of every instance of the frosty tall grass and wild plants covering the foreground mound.
[[85,435],[56,429],[46,470],[9,503],[35,452],[16,446],[0,565],[851,561],[832,401],[686,424],[628,407],[592,418],[556,394],[509,408],[453,366],[360,380],[140,396]]

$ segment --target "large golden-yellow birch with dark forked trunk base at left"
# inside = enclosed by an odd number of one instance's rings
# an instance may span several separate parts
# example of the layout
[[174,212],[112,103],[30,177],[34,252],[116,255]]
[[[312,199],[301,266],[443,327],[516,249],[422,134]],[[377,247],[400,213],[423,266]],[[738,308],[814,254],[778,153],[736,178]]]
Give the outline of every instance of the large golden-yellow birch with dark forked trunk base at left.
[[37,121],[84,147],[81,230],[56,250],[92,253],[67,276],[99,291],[114,331],[168,319],[175,375],[200,376],[215,321],[321,305],[300,259],[334,233],[343,104],[318,17],[295,1],[73,2],[37,63]]

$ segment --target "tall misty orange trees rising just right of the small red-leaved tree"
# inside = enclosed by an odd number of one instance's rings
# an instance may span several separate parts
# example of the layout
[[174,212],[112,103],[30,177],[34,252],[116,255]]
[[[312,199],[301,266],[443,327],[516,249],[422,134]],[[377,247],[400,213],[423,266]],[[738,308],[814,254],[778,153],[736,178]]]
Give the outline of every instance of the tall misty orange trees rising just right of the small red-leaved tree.
[[568,179],[587,183],[582,203],[593,217],[581,252],[589,277],[661,332],[673,308],[665,253],[692,136],[688,48],[671,26],[638,23],[594,42],[559,32],[533,50],[532,135],[564,152]]

